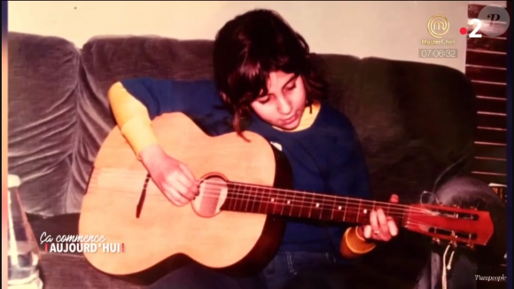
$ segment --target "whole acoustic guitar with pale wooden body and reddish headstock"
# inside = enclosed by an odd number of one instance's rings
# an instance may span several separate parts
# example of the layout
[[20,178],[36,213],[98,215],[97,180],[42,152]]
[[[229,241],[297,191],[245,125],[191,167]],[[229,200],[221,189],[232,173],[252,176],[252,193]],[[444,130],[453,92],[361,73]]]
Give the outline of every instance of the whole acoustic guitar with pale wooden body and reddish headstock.
[[209,137],[183,113],[161,115],[152,129],[167,153],[199,178],[199,196],[175,207],[152,183],[120,129],[113,129],[97,154],[79,223],[80,235],[123,243],[123,253],[84,252],[107,274],[156,278],[185,259],[242,272],[273,257],[284,217],[364,224],[378,207],[401,228],[455,245],[485,246],[493,234],[489,213],[472,208],[292,191],[287,159],[252,132],[245,132],[250,142],[236,133]]

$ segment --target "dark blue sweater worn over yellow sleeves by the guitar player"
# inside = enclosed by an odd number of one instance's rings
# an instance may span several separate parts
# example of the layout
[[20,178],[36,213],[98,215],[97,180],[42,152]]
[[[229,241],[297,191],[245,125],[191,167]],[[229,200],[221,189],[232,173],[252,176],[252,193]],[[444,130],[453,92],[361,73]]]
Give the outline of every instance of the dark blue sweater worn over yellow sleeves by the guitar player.
[[[153,119],[161,113],[188,115],[209,136],[233,132],[231,114],[211,81],[136,78],[121,81]],[[170,128],[173,129],[173,128]],[[370,199],[368,171],[354,127],[342,113],[322,102],[311,127],[296,132],[274,129],[253,114],[247,130],[279,144],[291,162],[293,189]],[[280,251],[338,253],[347,227],[293,221],[286,225]]]

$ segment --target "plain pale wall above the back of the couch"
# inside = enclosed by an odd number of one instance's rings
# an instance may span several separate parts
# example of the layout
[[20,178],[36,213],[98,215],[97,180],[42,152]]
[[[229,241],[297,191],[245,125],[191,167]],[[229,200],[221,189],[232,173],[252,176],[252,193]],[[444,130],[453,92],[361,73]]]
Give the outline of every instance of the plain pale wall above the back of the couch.
[[[256,7],[280,12],[318,53],[360,58],[431,62],[464,71],[467,5],[463,1],[406,2],[160,2],[10,1],[9,29],[64,37],[82,46],[94,35],[160,35],[213,39],[223,23]],[[458,59],[419,59],[422,39],[432,39],[427,21],[443,14],[450,21]]]

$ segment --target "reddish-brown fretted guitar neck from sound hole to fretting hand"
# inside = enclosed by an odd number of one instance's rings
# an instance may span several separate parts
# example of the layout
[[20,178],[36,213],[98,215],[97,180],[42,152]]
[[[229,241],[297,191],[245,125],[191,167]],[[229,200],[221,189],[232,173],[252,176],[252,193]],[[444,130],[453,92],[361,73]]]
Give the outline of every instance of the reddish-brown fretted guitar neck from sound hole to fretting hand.
[[229,184],[223,210],[282,215],[329,222],[370,222],[370,212],[382,208],[385,215],[403,224],[409,207],[368,199],[355,199],[305,191],[282,190],[250,184]]

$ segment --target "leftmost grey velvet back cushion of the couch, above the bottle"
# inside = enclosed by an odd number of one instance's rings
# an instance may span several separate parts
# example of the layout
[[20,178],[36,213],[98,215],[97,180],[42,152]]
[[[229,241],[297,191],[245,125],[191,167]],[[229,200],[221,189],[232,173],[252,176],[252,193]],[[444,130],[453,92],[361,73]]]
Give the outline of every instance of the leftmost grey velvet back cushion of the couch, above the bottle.
[[9,173],[28,213],[69,209],[80,54],[58,37],[9,33]]

